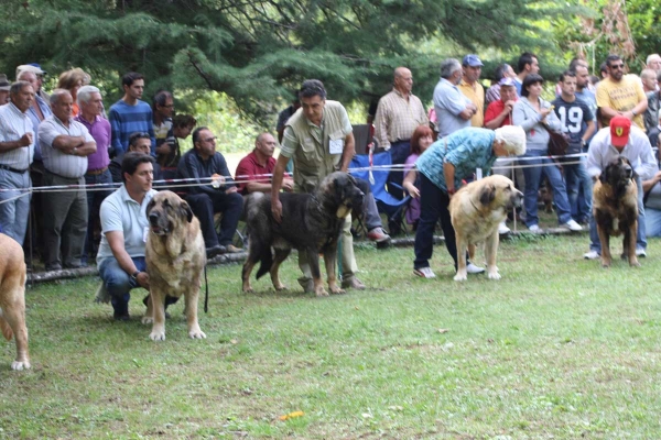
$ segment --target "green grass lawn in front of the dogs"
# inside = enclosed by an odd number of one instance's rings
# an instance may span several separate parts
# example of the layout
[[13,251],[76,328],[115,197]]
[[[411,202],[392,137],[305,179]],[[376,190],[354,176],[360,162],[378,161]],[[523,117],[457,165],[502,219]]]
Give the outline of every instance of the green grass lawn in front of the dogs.
[[285,293],[266,277],[245,295],[240,266],[209,267],[202,341],[181,304],[155,343],[143,292],[113,322],[97,278],[37,285],[32,370],[12,372],[13,341],[0,345],[0,438],[659,438],[661,243],[640,268],[602,270],[587,240],[506,241],[502,279],[464,284],[443,246],[431,280],[411,248],[357,246],[370,289],[319,299],[295,258]]

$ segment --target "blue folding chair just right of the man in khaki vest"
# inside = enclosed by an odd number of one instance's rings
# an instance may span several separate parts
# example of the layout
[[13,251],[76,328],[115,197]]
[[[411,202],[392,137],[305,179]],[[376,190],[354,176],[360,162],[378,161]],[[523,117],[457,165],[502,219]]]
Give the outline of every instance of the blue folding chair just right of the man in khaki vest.
[[[409,206],[411,196],[407,196],[403,199],[393,197],[386,190],[386,183],[388,180],[388,174],[390,173],[390,165],[392,165],[392,157],[390,152],[376,153],[372,155],[372,176],[375,179],[373,185],[370,183],[370,189],[377,200],[377,207],[380,212],[388,216],[388,222],[398,224],[407,237],[407,223],[404,221],[404,210]],[[361,154],[354,156],[354,160],[349,164],[349,173],[354,177],[361,178],[369,183],[369,155]],[[353,169],[354,168],[354,169]],[[356,169],[364,168],[364,169]]]

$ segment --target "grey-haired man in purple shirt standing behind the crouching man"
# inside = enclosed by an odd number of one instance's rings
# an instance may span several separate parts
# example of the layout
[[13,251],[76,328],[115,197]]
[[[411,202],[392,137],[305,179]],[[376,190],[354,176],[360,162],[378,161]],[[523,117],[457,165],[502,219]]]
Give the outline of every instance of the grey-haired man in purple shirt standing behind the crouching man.
[[[101,91],[94,86],[83,86],[77,94],[80,114],[74,120],[82,123],[96,143],[96,152],[87,156],[87,172],[85,173],[86,185],[112,184],[112,176],[108,169],[110,157],[110,122],[101,118],[104,112],[104,98]],[[87,235],[83,250],[83,262],[94,257],[98,242],[95,240],[95,231],[100,226],[99,209],[106,197],[112,194],[110,186],[104,188],[87,189]]]

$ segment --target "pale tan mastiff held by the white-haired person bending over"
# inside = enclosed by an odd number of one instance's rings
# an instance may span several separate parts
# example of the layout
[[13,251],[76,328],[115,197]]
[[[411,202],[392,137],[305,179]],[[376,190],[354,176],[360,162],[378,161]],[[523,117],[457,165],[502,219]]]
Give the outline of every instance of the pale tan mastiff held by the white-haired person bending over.
[[487,273],[490,279],[500,279],[496,266],[498,224],[507,212],[521,206],[523,194],[505,176],[489,176],[459,189],[449,201],[449,217],[457,240],[456,282],[466,280],[466,249],[470,258],[475,246],[485,242]]

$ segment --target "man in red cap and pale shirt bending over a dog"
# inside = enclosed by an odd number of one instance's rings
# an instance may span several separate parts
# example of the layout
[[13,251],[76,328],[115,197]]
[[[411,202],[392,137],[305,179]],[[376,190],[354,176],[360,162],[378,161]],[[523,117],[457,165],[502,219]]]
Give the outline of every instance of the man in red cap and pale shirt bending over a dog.
[[[648,136],[625,116],[616,116],[610,127],[595,134],[587,152],[587,173],[597,179],[608,163],[618,156],[629,160],[636,172],[638,186],[638,235],[636,237],[636,255],[647,256],[644,231],[644,209],[642,206],[642,180],[650,179],[659,170]],[[594,216],[589,221],[589,252],[583,255],[586,260],[596,260],[602,252],[597,224]]]

